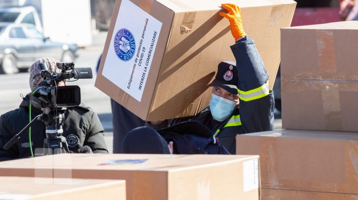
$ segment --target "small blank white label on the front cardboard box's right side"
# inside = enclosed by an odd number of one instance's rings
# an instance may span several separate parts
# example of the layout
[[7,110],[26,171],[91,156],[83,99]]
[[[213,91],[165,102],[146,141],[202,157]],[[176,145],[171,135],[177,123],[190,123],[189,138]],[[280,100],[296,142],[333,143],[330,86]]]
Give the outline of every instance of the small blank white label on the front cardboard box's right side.
[[259,159],[243,162],[244,192],[259,188]]

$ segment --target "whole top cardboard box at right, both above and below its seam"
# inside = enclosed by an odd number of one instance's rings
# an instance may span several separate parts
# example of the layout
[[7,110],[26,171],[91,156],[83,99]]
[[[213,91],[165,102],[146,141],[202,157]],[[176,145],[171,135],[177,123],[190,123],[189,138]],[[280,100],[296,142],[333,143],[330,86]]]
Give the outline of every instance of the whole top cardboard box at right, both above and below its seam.
[[358,21],[281,30],[282,128],[358,132]]

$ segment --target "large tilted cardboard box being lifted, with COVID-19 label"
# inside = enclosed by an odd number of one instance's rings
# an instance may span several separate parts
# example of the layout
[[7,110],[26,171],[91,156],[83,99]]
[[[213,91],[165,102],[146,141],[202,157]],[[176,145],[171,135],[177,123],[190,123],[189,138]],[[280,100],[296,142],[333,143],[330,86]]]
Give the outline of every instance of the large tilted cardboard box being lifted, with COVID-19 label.
[[[117,0],[95,87],[144,120],[192,116],[209,104],[220,61],[235,60],[225,0]],[[293,0],[233,0],[255,40],[272,88],[280,62],[279,30]],[[124,39],[122,39],[124,38]],[[268,39],[269,38],[269,39]]]

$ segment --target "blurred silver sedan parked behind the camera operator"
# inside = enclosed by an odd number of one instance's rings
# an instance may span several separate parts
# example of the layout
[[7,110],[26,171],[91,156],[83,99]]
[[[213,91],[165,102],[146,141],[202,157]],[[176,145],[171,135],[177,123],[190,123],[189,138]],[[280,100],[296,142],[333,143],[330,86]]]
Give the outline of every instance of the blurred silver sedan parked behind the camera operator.
[[52,42],[32,24],[0,23],[0,73],[27,70],[40,57],[74,62],[77,46]]

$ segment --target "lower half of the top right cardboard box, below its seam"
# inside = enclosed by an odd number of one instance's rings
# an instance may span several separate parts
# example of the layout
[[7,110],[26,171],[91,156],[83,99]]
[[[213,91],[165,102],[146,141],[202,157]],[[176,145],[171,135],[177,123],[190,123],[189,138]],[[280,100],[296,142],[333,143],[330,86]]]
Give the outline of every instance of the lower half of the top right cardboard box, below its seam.
[[358,81],[281,79],[282,128],[358,132]]

